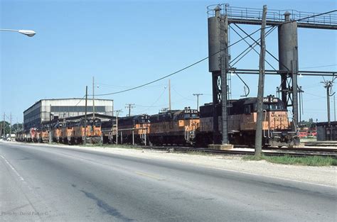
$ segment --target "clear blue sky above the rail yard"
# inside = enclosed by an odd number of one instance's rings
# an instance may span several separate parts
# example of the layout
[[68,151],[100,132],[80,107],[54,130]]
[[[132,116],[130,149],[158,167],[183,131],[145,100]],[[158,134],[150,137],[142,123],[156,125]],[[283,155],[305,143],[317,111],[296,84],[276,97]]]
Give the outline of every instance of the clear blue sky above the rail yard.
[[[105,94],[134,87],[190,65],[208,55],[206,7],[223,1],[7,1],[1,0],[0,28],[32,29],[33,38],[0,32],[0,113],[12,113],[14,121],[40,99],[82,97],[95,76],[95,93]],[[336,1],[227,1],[230,6],[262,9],[295,9],[325,12]],[[241,26],[248,33],[258,26]],[[258,38],[260,33],[255,35]],[[303,70],[337,70],[336,30],[299,28],[299,67]],[[230,33],[230,40],[239,37]],[[230,49],[232,57],[247,47],[242,42]],[[259,48],[257,48],[259,50]],[[267,50],[275,56],[277,30],[267,37]],[[267,60],[278,67],[277,61]],[[255,52],[237,63],[257,69]],[[330,67],[310,68],[333,65]],[[304,67],[308,67],[304,69]],[[268,65],[266,68],[269,69]],[[241,76],[257,96],[257,76]],[[326,121],[326,97],[321,77],[299,79],[305,91],[302,119]],[[267,76],[264,94],[276,94],[279,77]],[[136,104],[132,113],[156,113],[168,107],[168,79],[114,99],[115,109]],[[337,83],[336,83],[337,84]],[[334,87],[336,89],[336,87]],[[204,61],[171,77],[173,109],[210,102],[211,78]],[[232,77],[232,98],[240,98],[243,85]],[[333,104],[332,116],[333,120]],[[1,118],[2,119],[2,118]]]

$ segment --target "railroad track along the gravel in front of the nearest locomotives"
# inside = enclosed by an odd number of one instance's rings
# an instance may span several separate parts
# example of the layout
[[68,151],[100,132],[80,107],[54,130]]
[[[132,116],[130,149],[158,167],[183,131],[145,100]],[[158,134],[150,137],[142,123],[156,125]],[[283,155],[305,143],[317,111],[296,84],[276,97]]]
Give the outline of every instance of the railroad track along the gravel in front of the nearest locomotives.
[[[208,148],[191,148],[179,146],[142,146],[144,149],[153,150],[166,150],[168,152],[205,152],[219,155],[254,155],[254,150],[210,150]],[[264,155],[267,156],[284,156],[289,155],[292,157],[308,157],[308,156],[323,156],[337,158],[337,152],[331,149],[316,149],[316,150],[262,150]]]

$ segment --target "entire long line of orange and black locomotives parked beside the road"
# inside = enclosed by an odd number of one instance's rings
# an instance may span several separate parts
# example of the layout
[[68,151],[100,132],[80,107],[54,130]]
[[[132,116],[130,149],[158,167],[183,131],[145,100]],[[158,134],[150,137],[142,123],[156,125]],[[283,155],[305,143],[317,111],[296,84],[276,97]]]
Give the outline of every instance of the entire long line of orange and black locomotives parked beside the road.
[[[228,138],[231,144],[254,145],[257,123],[257,98],[228,101]],[[218,131],[213,131],[214,116]],[[143,145],[194,145],[206,146],[219,143],[221,138],[221,106],[205,104],[200,112],[186,107],[182,110],[163,111],[154,115],[137,115],[109,121],[89,118],[60,121],[50,124],[53,141],[78,144],[129,143]],[[16,139],[28,142],[48,141],[48,128],[31,128],[19,132]],[[48,135],[48,136],[47,136]],[[289,118],[282,101],[274,96],[263,99],[262,144],[265,146],[294,146],[299,144],[299,133]],[[219,142],[218,142],[219,141]]]

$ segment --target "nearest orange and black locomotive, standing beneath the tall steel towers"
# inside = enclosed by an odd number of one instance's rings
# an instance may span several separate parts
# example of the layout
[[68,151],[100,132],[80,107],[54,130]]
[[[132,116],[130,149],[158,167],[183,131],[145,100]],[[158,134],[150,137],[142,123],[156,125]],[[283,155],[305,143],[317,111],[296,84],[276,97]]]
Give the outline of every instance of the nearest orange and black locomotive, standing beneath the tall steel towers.
[[[231,144],[255,145],[257,123],[257,97],[228,101],[228,138]],[[202,145],[213,143],[213,115],[218,116],[221,132],[221,106],[213,104],[200,106],[200,136]],[[262,144],[264,146],[282,147],[299,145],[299,135],[292,118],[289,118],[283,102],[274,96],[263,99]]]

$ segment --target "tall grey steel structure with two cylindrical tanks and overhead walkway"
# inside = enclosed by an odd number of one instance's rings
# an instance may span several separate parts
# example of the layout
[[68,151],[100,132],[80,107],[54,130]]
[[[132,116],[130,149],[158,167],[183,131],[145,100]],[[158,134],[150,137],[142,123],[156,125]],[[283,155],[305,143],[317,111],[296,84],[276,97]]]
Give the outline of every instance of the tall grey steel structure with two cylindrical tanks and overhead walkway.
[[[240,68],[230,67],[230,45],[228,43],[228,27],[230,24],[246,24],[258,25],[262,24],[262,9],[234,7],[229,4],[218,4],[207,7],[208,9],[208,55],[209,55],[209,72],[212,72],[213,84],[213,105],[222,106],[223,120],[222,125],[227,125],[227,118],[224,116],[224,111],[228,105],[223,103],[222,100],[227,101],[228,90],[226,77],[230,70],[239,71]],[[225,21],[225,22],[223,22]],[[225,24],[225,25],[224,25]],[[303,12],[296,10],[272,10],[267,11],[267,27],[278,27],[279,38],[279,59],[274,57],[279,62],[279,70],[273,70],[275,74],[281,77],[281,84],[279,92],[282,95],[284,106],[292,108],[294,118],[294,128],[298,126],[298,92],[297,76],[302,74],[298,68],[298,43],[297,43],[297,28],[316,28],[316,29],[329,29],[337,30],[337,10],[328,11],[324,13]],[[267,28],[266,27],[266,28]],[[225,31],[224,31],[225,30]],[[225,34],[225,35],[224,35]],[[247,36],[248,37],[248,36]],[[245,38],[247,38],[245,37]],[[251,37],[250,37],[251,38]],[[243,40],[243,38],[242,38]],[[258,40],[255,40],[257,45]],[[225,46],[225,48],[224,48]],[[245,74],[247,70],[236,73]],[[243,71],[243,72],[242,72]],[[252,70],[249,70],[252,71]],[[306,73],[307,71],[304,71]],[[247,72],[249,73],[249,72]],[[255,72],[250,72],[252,74]],[[258,72],[257,72],[258,73]],[[272,74],[274,74],[272,73]],[[268,73],[266,73],[268,74]],[[319,74],[317,72],[307,72],[307,75]],[[324,75],[334,75],[336,72],[325,72]],[[225,80],[225,81],[224,81]],[[222,86],[222,84],[226,84]],[[227,113],[225,113],[227,115]],[[213,131],[217,134],[218,119],[215,118],[217,113],[214,113]],[[224,128],[223,128],[224,129]],[[223,137],[223,143],[227,138]],[[216,138],[215,138],[216,140]],[[219,143],[215,141],[214,143]]]

